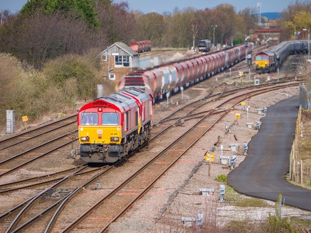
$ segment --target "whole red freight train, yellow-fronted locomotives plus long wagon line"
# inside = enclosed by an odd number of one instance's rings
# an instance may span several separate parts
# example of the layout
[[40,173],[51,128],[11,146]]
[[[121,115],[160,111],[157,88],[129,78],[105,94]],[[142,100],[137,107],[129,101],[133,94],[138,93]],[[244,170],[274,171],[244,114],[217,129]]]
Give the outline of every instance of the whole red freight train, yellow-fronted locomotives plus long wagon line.
[[235,46],[124,75],[117,93],[84,105],[77,115],[81,159],[115,163],[147,142],[154,101],[233,66],[254,44]]

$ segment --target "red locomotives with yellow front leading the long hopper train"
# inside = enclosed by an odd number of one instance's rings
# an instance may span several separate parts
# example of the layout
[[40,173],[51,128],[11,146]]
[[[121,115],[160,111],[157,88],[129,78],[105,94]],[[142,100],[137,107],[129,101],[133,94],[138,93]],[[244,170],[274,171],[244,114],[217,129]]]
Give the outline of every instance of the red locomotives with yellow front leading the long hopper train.
[[81,159],[115,163],[150,137],[153,98],[135,87],[84,105],[77,115]]

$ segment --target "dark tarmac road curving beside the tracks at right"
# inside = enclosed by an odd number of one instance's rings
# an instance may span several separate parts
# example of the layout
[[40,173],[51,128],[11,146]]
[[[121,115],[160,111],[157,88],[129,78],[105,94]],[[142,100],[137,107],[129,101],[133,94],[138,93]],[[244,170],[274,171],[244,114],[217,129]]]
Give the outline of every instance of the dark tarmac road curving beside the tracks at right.
[[276,201],[311,211],[311,190],[286,181],[289,156],[299,109],[299,96],[281,100],[267,108],[259,132],[248,143],[248,155],[228,175],[228,184],[239,193]]

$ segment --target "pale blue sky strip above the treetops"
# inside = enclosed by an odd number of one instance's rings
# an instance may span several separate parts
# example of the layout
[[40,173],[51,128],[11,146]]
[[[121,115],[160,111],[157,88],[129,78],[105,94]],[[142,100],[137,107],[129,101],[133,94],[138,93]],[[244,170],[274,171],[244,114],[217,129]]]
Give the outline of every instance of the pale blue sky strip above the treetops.
[[[114,0],[121,2],[121,0]],[[124,0],[125,1],[125,0]],[[18,12],[27,0],[0,0],[0,10],[9,10],[11,13]],[[139,10],[143,13],[155,11],[162,14],[163,12],[173,12],[178,6],[181,10],[191,6],[196,9],[213,8],[221,3],[229,3],[233,5],[238,13],[246,7],[257,8],[257,3],[261,3],[261,13],[265,12],[281,12],[286,9],[293,0],[127,0],[130,10]]]

